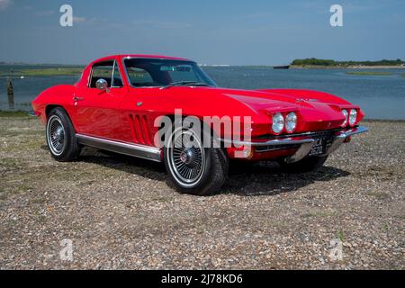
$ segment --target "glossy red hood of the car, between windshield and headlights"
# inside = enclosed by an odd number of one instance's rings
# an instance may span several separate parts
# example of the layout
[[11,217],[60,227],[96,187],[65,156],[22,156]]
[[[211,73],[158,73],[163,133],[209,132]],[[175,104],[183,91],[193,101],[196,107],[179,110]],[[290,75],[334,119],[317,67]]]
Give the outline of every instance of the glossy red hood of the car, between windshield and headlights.
[[[181,89],[181,87],[178,88]],[[231,106],[230,103],[236,101],[257,115],[271,116],[275,112],[297,112],[305,122],[305,126],[319,130],[340,127],[345,121],[341,109],[358,108],[338,96],[312,90],[240,90],[218,87],[193,87],[189,90],[208,96],[213,103],[223,106],[223,109],[228,111],[229,108],[226,106],[228,104]],[[362,112],[360,117],[363,117]]]

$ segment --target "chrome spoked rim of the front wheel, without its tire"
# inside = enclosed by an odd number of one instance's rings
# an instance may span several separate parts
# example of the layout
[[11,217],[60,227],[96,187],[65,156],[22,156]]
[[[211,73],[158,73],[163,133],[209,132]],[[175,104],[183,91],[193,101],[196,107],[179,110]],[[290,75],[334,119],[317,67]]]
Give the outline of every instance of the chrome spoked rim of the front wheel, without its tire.
[[177,130],[168,142],[169,168],[175,180],[184,187],[192,187],[202,178],[205,151],[202,140],[193,130]]

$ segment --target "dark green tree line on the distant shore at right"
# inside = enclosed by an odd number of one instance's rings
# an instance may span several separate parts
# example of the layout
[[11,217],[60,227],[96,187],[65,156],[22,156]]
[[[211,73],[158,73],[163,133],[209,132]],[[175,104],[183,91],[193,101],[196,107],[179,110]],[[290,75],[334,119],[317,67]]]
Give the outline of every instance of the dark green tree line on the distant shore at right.
[[294,59],[291,65],[295,66],[400,66],[405,62],[400,58],[396,60],[383,59],[380,61],[335,61],[332,59],[305,58]]

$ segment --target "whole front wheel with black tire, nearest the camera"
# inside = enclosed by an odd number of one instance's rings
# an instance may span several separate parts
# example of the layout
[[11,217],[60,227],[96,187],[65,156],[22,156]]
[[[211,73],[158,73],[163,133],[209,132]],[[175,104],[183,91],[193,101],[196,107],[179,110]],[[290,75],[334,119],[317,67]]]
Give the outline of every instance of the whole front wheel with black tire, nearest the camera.
[[180,127],[173,129],[165,141],[164,159],[169,181],[181,193],[211,194],[217,192],[227,178],[229,160],[225,151],[204,148],[203,137],[211,138],[211,135]]

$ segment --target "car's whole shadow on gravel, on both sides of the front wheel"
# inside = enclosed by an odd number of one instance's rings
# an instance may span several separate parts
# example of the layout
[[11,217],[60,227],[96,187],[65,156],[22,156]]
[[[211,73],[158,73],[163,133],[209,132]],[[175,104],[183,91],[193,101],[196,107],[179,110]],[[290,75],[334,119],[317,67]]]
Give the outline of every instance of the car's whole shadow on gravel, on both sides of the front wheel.
[[[166,181],[167,179],[166,169],[162,163],[109,151],[85,148],[78,161],[94,163],[151,180]],[[323,166],[316,172],[287,174],[273,162],[260,162],[255,165],[231,162],[229,180],[219,194],[275,195],[293,192],[315,182],[328,182],[347,175],[350,173],[333,166]]]

